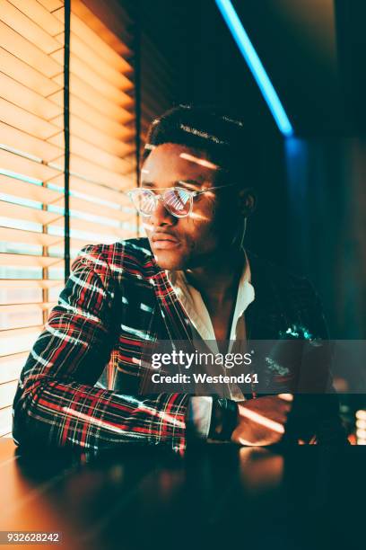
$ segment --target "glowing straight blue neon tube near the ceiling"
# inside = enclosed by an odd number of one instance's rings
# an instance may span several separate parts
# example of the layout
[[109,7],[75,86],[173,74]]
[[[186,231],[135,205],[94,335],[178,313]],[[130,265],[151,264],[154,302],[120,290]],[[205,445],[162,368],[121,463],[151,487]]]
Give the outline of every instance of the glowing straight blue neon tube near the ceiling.
[[253,48],[247,32],[244,30],[230,0],[215,0],[217,7],[222,13],[222,17],[228,25],[233,39],[236,41],[238,48],[247,61],[248,67],[254,76],[266,103],[274,116],[278,128],[284,136],[292,136],[293,129],[290,120],[288,119],[283,104],[280,101],[274,86],[266,74],[266,69],[263,67],[261,60],[257,56],[256,50]]

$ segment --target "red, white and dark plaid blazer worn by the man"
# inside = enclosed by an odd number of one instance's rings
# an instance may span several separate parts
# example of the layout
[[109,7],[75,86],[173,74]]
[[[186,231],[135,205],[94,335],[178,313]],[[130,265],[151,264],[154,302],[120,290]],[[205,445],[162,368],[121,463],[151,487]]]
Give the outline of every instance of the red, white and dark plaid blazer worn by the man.
[[[248,260],[256,288],[246,311],[248,338],[274,340],[289,327],[299,338],[327,338],[306,279],[252,253]],[[141,359],[146,341],[191,337],[147,239],[84,247],[22,369],[13,402],[15,442],[90,451],[130,442],[182,451],[189,395],[139,395]]]

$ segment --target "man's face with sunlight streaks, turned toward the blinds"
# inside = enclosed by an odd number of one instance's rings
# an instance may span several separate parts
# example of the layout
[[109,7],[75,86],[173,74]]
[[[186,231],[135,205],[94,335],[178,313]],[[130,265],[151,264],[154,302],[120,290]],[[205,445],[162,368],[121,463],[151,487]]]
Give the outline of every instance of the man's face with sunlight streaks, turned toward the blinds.
[[[156,146],[144,162],[142,187],[160,193],[163,188],[183,187],[203,191],[214,187],[217,168],[204,154],[175,144]],[[207,191],[193,199],[188,217],[174,217],[159,200],[144,229],[156,261],[162,269],[204,267],[214,255],[224,255],[238,223],[235,188]],[[230,208],[229,208],[230,206]],[[230,211],[229,211],[230,210]]]

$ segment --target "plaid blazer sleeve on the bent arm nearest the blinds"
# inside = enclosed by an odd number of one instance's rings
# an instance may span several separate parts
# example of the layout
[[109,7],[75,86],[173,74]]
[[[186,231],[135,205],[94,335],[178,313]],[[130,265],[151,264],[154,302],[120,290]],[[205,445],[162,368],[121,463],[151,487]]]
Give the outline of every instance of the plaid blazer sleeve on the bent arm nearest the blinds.
[[100,247],[87,246],[22,369],[13,438],[88,450],[123,443],[186,447],[188,395],[121,395],[94,386],[118,333],[118,281]]

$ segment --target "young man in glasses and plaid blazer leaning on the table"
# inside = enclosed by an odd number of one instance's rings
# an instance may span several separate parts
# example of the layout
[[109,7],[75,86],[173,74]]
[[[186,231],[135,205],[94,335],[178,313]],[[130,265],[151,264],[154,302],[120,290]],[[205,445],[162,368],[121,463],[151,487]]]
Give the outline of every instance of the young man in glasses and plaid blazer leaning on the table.
[[[255,206],[253,153],[242,123],[220,113],[180,106],[153,121],[141,188],[130,195],[148,239],[89,245],[74,261],[22,370],[13,404],[17,443],[182,450],[187,439],[283,439],[294,403],[288,393],[246,398],[235,386],[221,399],[140,392],[145,342],[276,340],[289,330],[299,340],[327,339],[309,282],[243,248]],[[296,386],[296,368],[287,386]],[[327,368],[320,386],[328,384]],[[336,405],[319,397],[329,395],[308,396],[298,407],[293,441],[344,440]]]

